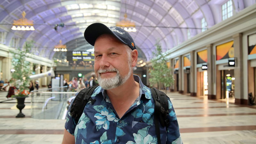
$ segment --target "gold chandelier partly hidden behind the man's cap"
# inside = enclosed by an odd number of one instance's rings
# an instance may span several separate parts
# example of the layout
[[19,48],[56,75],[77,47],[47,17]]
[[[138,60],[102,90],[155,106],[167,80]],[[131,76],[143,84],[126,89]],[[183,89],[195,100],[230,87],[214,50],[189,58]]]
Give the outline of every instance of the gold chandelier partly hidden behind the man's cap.
[[127,14],[126,12],[124,13],[124,20],[121,20],[119,22],[116,23],[116,26],[117,27],[121,27],[123,28],[125,31],[128,31],[128,32],[136,32],[136,28],[135,28],[135,23],[134,22],[131,22],[129,20],[126,20],[127,18]]

